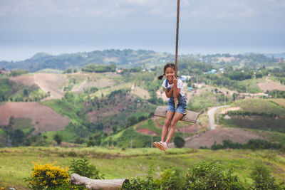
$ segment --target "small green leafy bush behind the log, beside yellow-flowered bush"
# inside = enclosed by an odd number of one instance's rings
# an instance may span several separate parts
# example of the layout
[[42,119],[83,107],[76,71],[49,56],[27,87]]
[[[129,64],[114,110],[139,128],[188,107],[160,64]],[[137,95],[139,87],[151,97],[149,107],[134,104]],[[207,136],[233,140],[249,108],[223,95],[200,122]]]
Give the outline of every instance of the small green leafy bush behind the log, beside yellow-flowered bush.
[[100,174],[100,171],[96,169],[95,165],[89,164],[88,159],[73,159],[71,161],[71,172],[86,176],[90,179],[104,179],[104,174]]

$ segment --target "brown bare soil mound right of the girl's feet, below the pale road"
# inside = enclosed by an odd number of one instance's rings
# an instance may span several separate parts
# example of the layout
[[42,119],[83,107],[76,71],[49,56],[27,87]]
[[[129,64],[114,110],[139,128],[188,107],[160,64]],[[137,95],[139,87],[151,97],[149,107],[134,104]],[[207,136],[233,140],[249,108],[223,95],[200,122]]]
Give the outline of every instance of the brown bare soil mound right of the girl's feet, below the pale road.
[[217,128],[215,130],[209,130],[199,135],[196,138],[187,140],[185,147],[192,149],[199,149],[199,147],[208,147],[216,142],[217,144],[222,144],[223,140],[231,140],[232,142],[238,142],[240,144],[245,144],[249,142],[250,139],[264,139],[257,134],[242,130],[239,128]]

